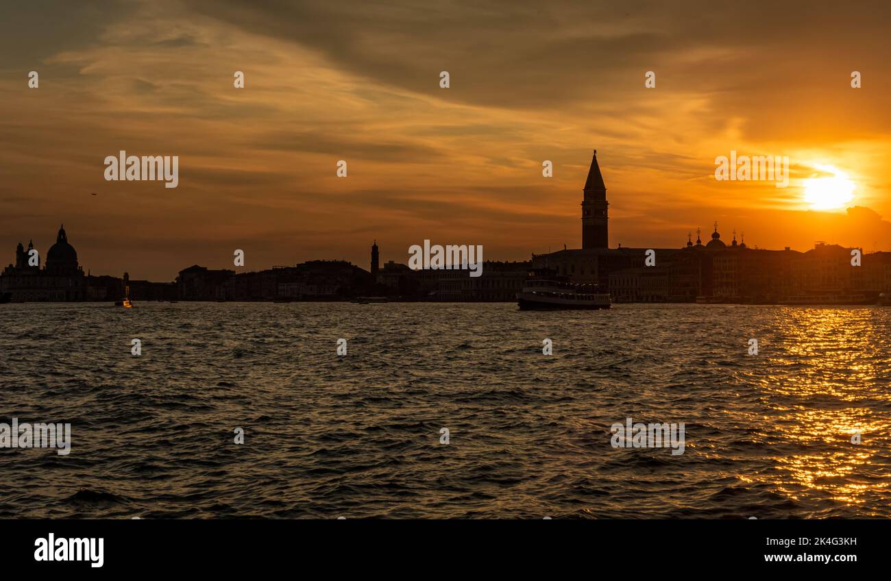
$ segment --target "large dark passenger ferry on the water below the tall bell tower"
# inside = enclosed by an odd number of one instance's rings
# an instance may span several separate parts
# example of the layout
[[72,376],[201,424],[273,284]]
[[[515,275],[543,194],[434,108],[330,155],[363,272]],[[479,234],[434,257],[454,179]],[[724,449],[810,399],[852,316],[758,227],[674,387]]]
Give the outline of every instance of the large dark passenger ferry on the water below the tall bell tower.
[[609,293],[599,292],[597,285],[569,282],[565,276],[535,272],[517,293],[521,311],[543,309],[609,308]]

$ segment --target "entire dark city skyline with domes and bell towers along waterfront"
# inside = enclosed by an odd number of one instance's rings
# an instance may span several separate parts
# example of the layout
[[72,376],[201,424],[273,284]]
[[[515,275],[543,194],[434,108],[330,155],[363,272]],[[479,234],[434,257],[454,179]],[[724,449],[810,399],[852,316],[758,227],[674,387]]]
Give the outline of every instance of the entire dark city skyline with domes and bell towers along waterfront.
[[[609,248],[606,184],[594,151],[584,182],[582,248],[533,254],[519,262],[485,261],[482,273],[412,270],[389,260],[380,265],[374,241],[370,270],[345,260],[310,260],[294,266],[235,273],[193,265],[175,282],[133,281],[84,274],[68,233],[59,228],[45,260],[19,242],[15,262],[0,273],[0,302],[135,300],[344,300],[387,296],[395,300],[513,301],[532,269],[548,269],[572,282],[596,284],[614,302],[756,304],[891,303],[891,252],[863,254],[817,242],[813,250],[749,248],[745,234],[728,245],[717,222],[707,243],[696,230],[679,248]],[[655,252],[655,264],[646,261]],[[862,266],[852,266],[859,250]],[[880,297],[884,293],[884,297]]]

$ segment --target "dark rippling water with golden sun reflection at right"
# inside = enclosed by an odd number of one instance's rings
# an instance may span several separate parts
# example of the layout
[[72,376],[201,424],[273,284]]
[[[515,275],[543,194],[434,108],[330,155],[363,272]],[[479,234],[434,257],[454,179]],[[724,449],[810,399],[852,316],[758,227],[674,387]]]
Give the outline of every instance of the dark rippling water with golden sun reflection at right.
[[889,377],[878,307],[3,305],[0,422],[72,446],[0,449],[0,517],[889,517]]

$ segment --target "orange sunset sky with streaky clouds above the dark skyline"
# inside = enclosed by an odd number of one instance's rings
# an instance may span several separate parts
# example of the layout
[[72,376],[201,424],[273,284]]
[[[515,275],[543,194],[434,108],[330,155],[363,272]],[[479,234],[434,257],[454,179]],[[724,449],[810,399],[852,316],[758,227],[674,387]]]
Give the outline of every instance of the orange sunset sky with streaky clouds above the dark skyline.
[[[889,12],[881,2],[4,3],[0,265],[19,241],[45,253],[62,222],[85,270],[156,281],[195,263],[233,268],[235,249],[240,271],[312,258],[368,268],[375,239],[383,261],[407,262],[424,239],[527,259],[580,247],[593,149],[610,246],[680,247],[717,220],[725,241],[735,228],[759,248],[891,250]],[[120,150],[178,155],[179,186],[105,181],[103,160]],[[732,150],[789,156],[789,187],[717,182],[715,157]],[[815,211],[803,180],[828,167],[854,198]]]

